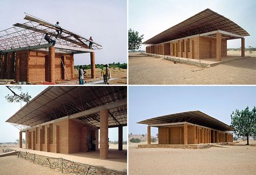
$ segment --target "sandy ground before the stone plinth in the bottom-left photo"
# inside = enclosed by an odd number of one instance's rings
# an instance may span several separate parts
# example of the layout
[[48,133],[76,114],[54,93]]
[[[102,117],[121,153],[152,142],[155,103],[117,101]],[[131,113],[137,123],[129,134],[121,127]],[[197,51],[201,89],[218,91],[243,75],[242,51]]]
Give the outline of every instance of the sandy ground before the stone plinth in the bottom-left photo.
[[46,166],[33,164],[17,156],[0,157],[0,174],[62,174]]

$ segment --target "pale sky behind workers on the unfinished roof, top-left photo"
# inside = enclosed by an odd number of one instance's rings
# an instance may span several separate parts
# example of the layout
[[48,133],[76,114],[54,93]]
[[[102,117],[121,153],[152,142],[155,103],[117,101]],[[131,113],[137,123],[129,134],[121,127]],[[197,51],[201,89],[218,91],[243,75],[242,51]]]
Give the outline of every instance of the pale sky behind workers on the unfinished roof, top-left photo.
[[[95,51],[95,63],[127,63],[127,1],[126,0],[44,0],[1,1],[0,31],[15,23],[25,23],[27,14],[83,37],[93,37],[103,46]],[[90,64],[90,53],[74,56],[74,65]]]

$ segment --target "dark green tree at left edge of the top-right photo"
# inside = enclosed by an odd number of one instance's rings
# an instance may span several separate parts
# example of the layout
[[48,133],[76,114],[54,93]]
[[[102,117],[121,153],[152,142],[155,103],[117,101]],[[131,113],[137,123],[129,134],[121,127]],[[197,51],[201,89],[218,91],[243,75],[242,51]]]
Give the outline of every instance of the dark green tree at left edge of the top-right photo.
[[144,35],[139,36],[139,32],[129,29],[128,31],[128,50],[140,48]]

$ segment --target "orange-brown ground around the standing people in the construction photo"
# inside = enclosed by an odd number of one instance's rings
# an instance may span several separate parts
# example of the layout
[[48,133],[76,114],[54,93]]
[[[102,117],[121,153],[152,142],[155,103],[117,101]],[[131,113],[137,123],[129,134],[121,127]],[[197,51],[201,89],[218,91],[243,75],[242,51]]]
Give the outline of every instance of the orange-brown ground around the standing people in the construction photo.
[[[75,72],[75,79],[78,79],[78,71],[74,70]],[[127,69],[119,69],[119,68],[111,68],[110,69],[112,78],[117,78],[110,81],[110,84],[127,84]],[[95,69],[96,78],[101,76],[101,69],[96,68]],[[77,77],[77,78],[76,78]],[[90,79],[91,77],[91,70],[86,70],[86,79]]]

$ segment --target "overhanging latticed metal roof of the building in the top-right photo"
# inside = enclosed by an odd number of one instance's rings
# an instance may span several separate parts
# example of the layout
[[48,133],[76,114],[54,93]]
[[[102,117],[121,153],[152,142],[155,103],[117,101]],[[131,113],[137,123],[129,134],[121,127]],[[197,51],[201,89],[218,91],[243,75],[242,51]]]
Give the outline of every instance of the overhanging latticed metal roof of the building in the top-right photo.
[[[185,21],[159,33],[153,38],[148,39],[142,44],[159,44],[167,41],[172,41],[174,39],[198,35],[201,33],[207,33],[216,30],[233,33],[239,36],[250,36],[247,31],[242,29],[238,24],[234,23],[230,19],[210,9],[206,9],[186,19]],[[230,35],[224,35],[223,37],[226,39],[239,38]]]

